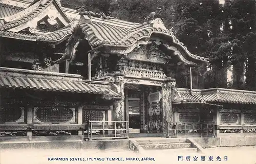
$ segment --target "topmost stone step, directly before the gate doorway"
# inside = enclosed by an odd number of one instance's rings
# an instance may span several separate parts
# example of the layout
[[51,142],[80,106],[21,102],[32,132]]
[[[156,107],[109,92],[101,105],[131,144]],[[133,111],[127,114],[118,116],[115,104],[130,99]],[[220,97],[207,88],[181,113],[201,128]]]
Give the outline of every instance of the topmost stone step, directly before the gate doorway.
[[136,139],[140,145],[147,144],[172,144],[172,143],[185,143],[186,138],[158,138],[158,139]]

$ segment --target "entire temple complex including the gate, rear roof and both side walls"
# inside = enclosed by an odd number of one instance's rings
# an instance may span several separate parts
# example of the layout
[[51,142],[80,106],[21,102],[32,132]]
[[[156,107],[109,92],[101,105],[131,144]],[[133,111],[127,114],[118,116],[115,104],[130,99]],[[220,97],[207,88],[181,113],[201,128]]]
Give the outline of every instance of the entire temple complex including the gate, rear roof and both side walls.
[[87,121],[101,137],[255,134],[255,92],[175,88],[180,69],[208,59],[160,18],[135,24],[28,2],[0,2],[1,136],[83,136]]

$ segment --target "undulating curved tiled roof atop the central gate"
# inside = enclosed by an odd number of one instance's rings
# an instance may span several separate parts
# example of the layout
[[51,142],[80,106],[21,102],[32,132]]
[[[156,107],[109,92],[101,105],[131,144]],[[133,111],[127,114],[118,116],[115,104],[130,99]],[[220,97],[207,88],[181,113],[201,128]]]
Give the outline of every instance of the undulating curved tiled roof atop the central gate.
[[[144,24],[118,21],[120,20],[90,18],[87,15],[82,15],[73,35],[79,35],[75,31],[82,31],[92,46],[92,51],[105,50],[105,47],[109,47],[110,51],[119,54],[131,53],[140,44],[147,44],[154,35],[154,37],[157,36],[164,40],[166,49],[175,52],[174,55],[178,56],[185,64],[197,65],[197,63],[208,61],[207,58],[191,54],[184,44],[174,36],[173,32],[166,29],[159,18]],[[73,40],[70,39],[70,41]]]

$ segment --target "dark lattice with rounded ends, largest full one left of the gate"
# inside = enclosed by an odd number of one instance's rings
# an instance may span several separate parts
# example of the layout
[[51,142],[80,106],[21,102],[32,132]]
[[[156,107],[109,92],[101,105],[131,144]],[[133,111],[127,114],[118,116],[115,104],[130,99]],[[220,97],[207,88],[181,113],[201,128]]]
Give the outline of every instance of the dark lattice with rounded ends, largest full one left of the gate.
[[37,119],[41,122],[69,122],[73,118],[73,110],[70,108],[39,107],[36,110]]

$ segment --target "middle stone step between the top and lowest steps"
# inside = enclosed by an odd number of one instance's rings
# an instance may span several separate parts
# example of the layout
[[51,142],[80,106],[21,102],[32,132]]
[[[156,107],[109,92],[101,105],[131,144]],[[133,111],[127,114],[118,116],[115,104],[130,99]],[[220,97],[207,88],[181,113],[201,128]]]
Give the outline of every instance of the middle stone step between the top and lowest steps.
[[191,148],[190,143],[171,143],[171,144],[147,144],[141,145],[143,149],[182,149]]

